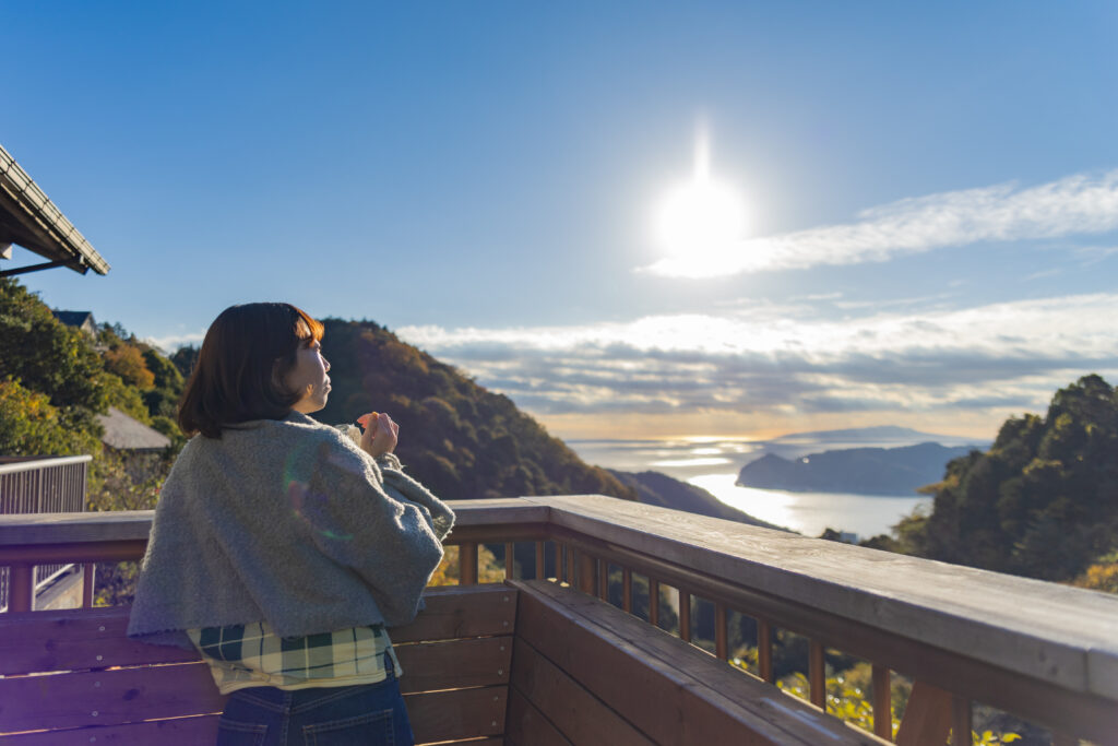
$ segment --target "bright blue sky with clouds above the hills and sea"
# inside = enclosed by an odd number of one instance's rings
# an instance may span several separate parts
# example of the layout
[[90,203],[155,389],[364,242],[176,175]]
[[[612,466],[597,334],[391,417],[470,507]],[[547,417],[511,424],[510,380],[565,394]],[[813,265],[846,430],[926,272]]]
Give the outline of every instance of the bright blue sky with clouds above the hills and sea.
[[[3,3],[0,27],[0,143],[113,265],[23,282],[168,347],[287,300],[580,437],[988,438],[1115,383],[1114,3]],[[666,246],[703,132],[746,217]]]

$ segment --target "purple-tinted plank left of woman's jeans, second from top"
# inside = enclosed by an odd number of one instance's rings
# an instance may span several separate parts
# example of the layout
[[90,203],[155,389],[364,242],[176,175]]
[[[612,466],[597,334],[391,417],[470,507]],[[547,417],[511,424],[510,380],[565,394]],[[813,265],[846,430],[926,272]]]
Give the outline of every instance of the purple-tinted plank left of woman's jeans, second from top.
[[0,733],[220,712],[202,662],[0,679]]

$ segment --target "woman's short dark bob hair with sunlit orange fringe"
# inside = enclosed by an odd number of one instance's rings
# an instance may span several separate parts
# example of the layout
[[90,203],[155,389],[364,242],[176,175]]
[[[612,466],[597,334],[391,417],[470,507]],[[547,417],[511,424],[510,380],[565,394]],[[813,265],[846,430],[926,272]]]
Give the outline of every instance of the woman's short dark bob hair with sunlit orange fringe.
[[179,403],[187,435],[221,437],[252,419],[283,419],[301,393],[283,385],[300,346],[322,324],[290,303],[245,303],[214,320]]

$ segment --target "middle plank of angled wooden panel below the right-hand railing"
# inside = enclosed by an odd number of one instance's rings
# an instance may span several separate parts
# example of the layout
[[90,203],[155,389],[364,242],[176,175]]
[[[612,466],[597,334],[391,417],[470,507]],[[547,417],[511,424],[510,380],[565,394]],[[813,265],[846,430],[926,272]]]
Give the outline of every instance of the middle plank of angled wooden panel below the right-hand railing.
[[644,734],[523,640],[517,641],[512,687],[572,744],[654,746]]

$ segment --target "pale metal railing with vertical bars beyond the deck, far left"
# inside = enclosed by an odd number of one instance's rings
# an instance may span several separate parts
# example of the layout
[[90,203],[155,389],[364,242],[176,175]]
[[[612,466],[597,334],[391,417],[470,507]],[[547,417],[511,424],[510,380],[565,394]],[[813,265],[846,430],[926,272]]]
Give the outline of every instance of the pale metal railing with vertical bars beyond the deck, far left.
[[[85,488],[93,456],[0,456],[0,514],[85,510]],[[39,565],[35,593],[73,567]],[[92,569],[87,568],[92,576]],[[8,572],[0,569],[0,610],[8,606]]]

